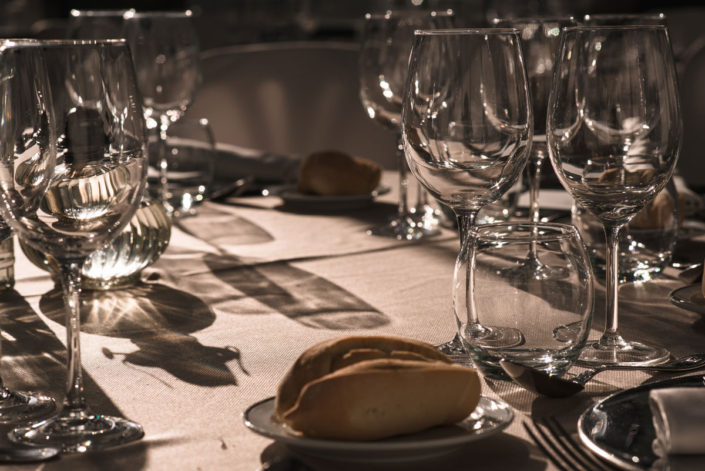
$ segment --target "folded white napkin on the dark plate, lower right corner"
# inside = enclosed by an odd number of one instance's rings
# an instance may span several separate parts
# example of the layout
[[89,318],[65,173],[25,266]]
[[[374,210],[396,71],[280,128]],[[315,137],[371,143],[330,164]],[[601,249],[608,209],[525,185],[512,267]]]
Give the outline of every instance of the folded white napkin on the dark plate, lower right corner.
[[705,459],[705,388],[654,389],[649,406],[658,456],[703,455]]

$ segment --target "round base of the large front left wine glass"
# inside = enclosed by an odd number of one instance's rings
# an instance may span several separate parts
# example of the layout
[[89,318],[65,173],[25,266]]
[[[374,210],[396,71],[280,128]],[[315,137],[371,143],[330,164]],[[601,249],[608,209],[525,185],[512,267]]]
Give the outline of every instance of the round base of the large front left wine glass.
[[58,416],[43,422],[18,427],[8,437],[15,443],[51,446],[62,453],[85,453],[91,450],[124,445],[144,436],[142,426],[119,417],[85,415],[79,418]]

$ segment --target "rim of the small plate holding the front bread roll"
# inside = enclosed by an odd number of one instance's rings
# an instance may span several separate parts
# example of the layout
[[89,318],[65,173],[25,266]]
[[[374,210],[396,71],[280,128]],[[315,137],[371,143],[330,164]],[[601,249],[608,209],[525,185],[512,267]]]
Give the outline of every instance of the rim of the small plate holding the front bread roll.
[[[417,451],[427,451],[427,450],[433,450],[433,449],[443,449],[443,448],[453,448],[460,446],[464,443],[476,441],[482,438],[486,438],[492,435],[495,435],[497,433],[500,433],[502,430],[507,428],[515,418],[515,413],[512,407],[507,404],[505,401],[501,399],[495,399],[495,398],[490,398],[488,396],[481,395],[480,396],[480,402],[484,401],[489,401],[491,405],[494,407],[501,407],[504,413],[507,414],[506,420],[500,422],[497,424],[495,427],[488,429],[482,433],[463,433],[459,434],[454,437],[445,437],[445,438],[436,438],[436,439],[427,439],[427,440],[398,440],[398,441],[383,441],[383,440],[372,440],[372,441],[348,441],[348,440],[325,440],[325,439],[320,439],[320,438],[309,438],[309,437],[303,437],[303,436],[296,436],[296,435],[288,435],[288,434],[276,434],[276,433],[271,433],[269,431],[263,430],[259,425],[253,423],[250,420],[251,413],[257,409],[258,407],[263,407],[266,406],[267,403],[273,403],[274,402],[274,396],[267,397],[265,399],[259,400],[255,402],[254,404],[250,405],[242,414],[243,417],[243,422],[245,426],[253,431],[254,433],[257,433],[259,435],[262,435],[267,438],[271,438],[273,440],[279,440],[287,445],[297,447],[300,449],[312,449],[312,450],[319,450],[319,451],[339,451],[339,452],[361,452],[361,451],[368,451],[368,452],[378,452],[378,453],[393,453],[393,452],[401,452],[401,451],[408,451],[409,448],[413,447],[413,449]],[[479,403],[478,403],[479,405]],[[476,409],[475,409],[476,410]],[[475,411],[473,410],[473,412]],[[468,414],[468,416],[463,419],[467,420],[470,415],[472,415],[471,412]],[[423,432],[418,432],[418,433],[423,433]],[[416,434],[409,434],[409,437],[413,437]],[[404,435],[400,435],[399,437],[404,437]],[[393,437],[393,438],[399,438],[399,437]]]

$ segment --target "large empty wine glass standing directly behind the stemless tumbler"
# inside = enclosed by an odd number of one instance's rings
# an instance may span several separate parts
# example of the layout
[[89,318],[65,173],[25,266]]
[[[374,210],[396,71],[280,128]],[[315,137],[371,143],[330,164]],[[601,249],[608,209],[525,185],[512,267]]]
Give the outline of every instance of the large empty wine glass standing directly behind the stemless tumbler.
[[[455,212],[465,247],[478,211],[516,183],[529,155],[533,124],[519,31],[422,30],[414,37],[402,106],[404,151],[416,178]],[[471,249],[463,253],[472,256]],[[454,291],[462,289],[461,278],[471,282],[472,272],[456,273]],[[464,336],[519,340],[511,329],[480,326],[472,303],[466,306],[455,312]],[[469,361],[457,335],[439,348]]]

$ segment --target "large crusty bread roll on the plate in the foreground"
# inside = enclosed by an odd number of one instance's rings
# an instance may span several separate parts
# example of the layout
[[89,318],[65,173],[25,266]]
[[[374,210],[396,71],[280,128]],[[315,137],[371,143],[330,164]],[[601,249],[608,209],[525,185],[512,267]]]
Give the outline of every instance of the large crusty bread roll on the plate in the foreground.
[[307,436],[375,440],[457,422],[479,399],[477,372],[429,344],[344,337],[298,358],[279,387],[276,414]]

